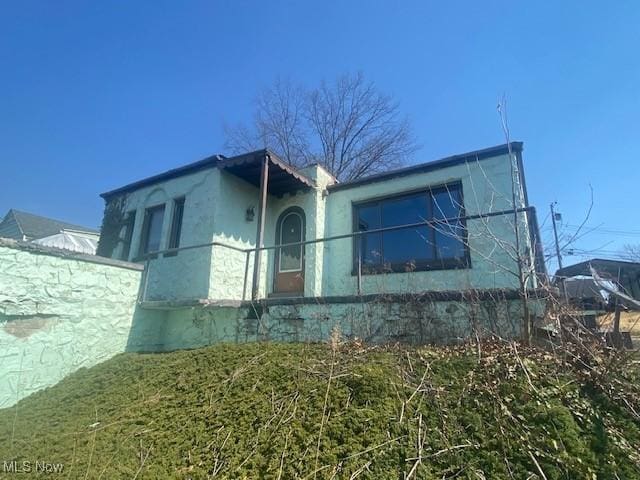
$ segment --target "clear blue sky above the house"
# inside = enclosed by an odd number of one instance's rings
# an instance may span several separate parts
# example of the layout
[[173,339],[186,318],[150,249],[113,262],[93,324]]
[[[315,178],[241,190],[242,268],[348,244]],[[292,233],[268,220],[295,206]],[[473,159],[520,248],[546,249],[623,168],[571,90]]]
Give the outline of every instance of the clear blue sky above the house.
[[640,243],[640,2],[4,1],[0,22],[0,214],[97,226],[100,192],[225,153],[278,76],[362,71],[416,162],[503,143],[506,94],[540,221],[557,201],[573,233],[591,185],[573,247]]

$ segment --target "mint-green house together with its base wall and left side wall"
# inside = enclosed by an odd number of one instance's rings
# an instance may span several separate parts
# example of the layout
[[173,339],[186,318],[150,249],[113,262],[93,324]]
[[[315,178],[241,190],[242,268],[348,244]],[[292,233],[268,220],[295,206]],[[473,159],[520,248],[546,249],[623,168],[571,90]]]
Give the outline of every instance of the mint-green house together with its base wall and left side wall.
[[216,155],[102,196],[98,255],[4,222],[20,230],[0,239],[0,408],[124,351],[514,339],[544,313],[521,143],[342,183]]

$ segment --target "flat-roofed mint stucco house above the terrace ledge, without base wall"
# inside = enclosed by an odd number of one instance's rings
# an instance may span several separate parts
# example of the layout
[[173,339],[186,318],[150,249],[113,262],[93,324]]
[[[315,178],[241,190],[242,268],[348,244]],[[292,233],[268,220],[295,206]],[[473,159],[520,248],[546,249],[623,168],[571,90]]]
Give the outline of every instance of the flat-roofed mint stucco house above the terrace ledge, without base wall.
[[216,155],[102,197],[98,254],[147,261],[146,301],[517,290],[517,244],[545,274],[519,142],[344,183]]

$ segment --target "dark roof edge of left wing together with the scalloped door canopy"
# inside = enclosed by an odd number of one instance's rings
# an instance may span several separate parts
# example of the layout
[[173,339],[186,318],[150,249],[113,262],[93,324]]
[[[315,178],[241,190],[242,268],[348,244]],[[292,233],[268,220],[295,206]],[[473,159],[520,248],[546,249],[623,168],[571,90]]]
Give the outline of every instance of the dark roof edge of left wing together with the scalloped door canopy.
[[102,193],[100,196],[105,200],[122,193],[132,192],[142,187],[153,185],[173,178],[182,177],[191,173],[209,168],[222,168],[237,175],[253,185],[260,185],[260,162],[265,155],[269,156],[271,165],[276,168],[269,172],[269,193],[281,195],[296,188],[307,188],[314,186],[313,180],[309,179],[295,168],[280,160],[273,152],[262,149],[254,152],[243,153],[234,157],[223,155],[211,155],[194,163],[189,163],[182,167],[167,170],[166,172],[151,177],[129,183],[123,187]]

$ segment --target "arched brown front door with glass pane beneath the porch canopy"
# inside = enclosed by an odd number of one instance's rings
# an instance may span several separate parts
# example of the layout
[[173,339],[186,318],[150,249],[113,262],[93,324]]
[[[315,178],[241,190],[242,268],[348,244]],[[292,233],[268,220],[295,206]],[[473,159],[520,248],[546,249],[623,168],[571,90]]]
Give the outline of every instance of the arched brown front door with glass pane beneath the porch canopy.
[[[303,242],[304,212],[292,207],[285,210],[276,226],[276,244]],[[289,245],[276,249],[274,293],[302,295],[304,292],[304,246]]]

